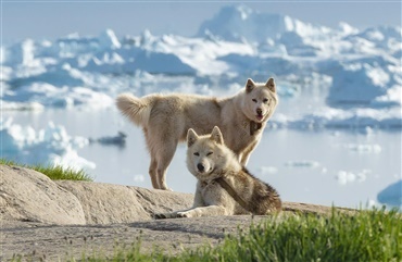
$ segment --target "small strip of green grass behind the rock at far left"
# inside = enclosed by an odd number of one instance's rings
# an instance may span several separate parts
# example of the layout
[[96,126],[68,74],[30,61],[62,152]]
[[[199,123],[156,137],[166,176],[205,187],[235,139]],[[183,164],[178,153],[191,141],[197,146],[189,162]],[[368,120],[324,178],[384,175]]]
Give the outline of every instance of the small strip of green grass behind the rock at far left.
[[68,167],[63,167],[60,165],[41,165],[41,164],[35,164],[35,165],[27,165],[27,164],[21,164],[14,161],[0,159],[0,164],[3,165],[16,165],[16,166],[23,166],[27,169],[35,170],[37,172],[40,172],[45,175],[47,175],[50,179],[53,180],[93,180],[91,176],[89,176],[84,170],[73,170]]

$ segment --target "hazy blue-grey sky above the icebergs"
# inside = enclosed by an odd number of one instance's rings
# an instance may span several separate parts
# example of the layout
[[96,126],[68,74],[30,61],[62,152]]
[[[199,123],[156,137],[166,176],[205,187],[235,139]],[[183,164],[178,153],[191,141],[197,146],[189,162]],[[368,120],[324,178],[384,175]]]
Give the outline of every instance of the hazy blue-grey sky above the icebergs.
[[[1,0],[2,42],[25,38],[54,39],[72,33],[97,36],[106,28],[117,36],[193,36],[205,20],[222,7],[241,1],[78,1]],[[303,22],[336,27],[339,22],[364,29],[401,25],[401,1],[249,1],[246,5],[263,13],[280,13]]]

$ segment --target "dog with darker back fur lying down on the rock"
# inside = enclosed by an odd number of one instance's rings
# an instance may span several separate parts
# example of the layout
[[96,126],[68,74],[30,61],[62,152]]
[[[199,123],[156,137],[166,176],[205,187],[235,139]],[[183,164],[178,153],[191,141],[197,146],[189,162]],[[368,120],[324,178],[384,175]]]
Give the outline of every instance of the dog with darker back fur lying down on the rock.
[[[155,214],[155,219],[235,215],[264,215],[280,211],[281,201],[269,185],[252,176],[228,149],[218,127],[211,135],[198,136],[193,129],[187,136],[187,167],[198,179],[193,207],[189,210]],[[244,201],[242,207],[218,182],[225,183]]]

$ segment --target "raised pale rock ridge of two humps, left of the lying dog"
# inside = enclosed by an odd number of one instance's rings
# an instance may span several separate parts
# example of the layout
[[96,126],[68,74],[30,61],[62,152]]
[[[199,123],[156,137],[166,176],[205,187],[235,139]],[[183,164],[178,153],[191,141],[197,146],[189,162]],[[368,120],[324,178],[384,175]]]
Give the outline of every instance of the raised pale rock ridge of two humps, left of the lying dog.
[[51,180],[36,171],[0,165],[0,213],[5,221],[110,224],[147,221],[186,209],[192,195],[91,182]]

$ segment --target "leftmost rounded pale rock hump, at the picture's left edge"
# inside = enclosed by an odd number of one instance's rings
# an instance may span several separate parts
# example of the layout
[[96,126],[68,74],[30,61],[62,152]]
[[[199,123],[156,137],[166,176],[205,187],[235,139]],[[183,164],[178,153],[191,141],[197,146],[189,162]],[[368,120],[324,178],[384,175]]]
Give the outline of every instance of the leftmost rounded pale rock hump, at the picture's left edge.
[[48,224],[85,224],[78,199],[49,177],[33,170],[0,165],[2,220]]

